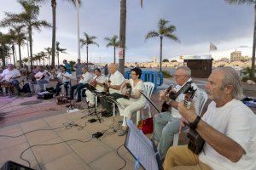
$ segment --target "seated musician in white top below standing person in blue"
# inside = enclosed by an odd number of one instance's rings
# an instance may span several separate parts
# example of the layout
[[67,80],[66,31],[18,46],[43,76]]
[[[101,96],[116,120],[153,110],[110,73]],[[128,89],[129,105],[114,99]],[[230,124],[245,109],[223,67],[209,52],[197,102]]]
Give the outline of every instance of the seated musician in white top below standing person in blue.
[[67,72],[66,67],[61,65],[61,72],[59,72],[57,76],[58,82],[56,84],[56,96],[58,96],[61,92],[61,85],[64,85],[67,95],[67,88],[68,84],[70,83],[70,77],[72,77],[72,75]]

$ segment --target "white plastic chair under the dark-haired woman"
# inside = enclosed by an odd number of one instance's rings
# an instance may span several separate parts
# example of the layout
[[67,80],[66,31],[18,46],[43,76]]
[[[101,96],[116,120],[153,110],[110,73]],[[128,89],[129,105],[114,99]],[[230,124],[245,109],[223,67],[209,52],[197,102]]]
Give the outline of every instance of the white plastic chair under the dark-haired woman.
[[[144,84],[144,88],[145,88],[145,94],[146,96],[148,97],[148,99],[151,98],[151,95],[153,93],[153,90],[154,90],[154,83],[153,82],[143,82]],[[147,103],[145,104],[144,109],[148,108],[148,115],[149,117],[151,117],[151,112],[150,112],[150,105],[148,104],[148,101]],[[143,116],[144,118],[144,116]],[[137,123],[141,120],[141,111],[137,111]]]

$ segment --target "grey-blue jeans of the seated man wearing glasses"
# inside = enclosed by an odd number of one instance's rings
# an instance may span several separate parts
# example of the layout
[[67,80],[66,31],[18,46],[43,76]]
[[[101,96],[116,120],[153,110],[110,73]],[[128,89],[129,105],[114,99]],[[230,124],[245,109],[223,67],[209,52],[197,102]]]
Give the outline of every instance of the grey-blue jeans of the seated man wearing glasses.
[[154,115],[154,139],[159,141],[157,150],[160,159],[166,156],[166,152],[172,145],[175,133],[178,133],[180,118],[173,117],[170,111]]

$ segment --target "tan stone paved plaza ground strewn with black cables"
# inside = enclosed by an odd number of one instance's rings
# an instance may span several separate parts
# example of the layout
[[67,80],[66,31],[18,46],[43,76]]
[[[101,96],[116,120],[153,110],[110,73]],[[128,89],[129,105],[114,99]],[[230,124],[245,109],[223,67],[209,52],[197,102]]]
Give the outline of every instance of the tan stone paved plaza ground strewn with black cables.
[[[164,84],[154,91],[151,99],[159,108],[158,94],[172,82],[173,80],[165,79]],[[204,89],[206,79],[195,79],[195,83]],[[255,86],[244,84],[244,93],[256,97]],[[23,105],[24,102],[39,103]],[[85,102],[80,105],[84,108],[86,106]],[[256,112],[254,108],[252,110]],[[151,111],[156,113],[154,109]],[[147,111],[144,113],[148,116]],[[125,137],[119,137],[111,128],[113,117],[102,117],[102,123],[90,123],[88,120],[95,116],[88,115],[86,109],[68,113],[66,105],[55,104],[55,98],[38,100],[35,95],[19,98],[0,97],[0,167],[5,161],[12,160],[25,166],[28,166],[29,161],[32,168],[47,170],[112,170],[123,166],[123,169],[133,169],[134,158],[124,146],[121,146],[125,142]],[[121,119],[120,116],[115,117],[116,122]],[[76,126],[68,126],[68,123],[72,122]],[[97,131],[105,133],[101,139],[91,139],[91,135]],[[22,135],[23,133],[26,134]],[[1,135],[20,137],[10,138]],[[119,155],[125,159],[126,164],[118,156],[118,148]],[[27,161],[20,159],[22,152],[22,158]]]

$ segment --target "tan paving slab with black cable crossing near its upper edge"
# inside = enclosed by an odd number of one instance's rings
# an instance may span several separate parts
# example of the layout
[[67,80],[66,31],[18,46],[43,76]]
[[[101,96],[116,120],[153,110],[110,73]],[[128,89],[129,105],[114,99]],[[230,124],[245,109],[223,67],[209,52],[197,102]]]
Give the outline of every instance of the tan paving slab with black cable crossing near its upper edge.
[[66,156],[73,152],[66,143],[55,144],[63,141],[61,138],[49,140],[41,144],[52,144],[46,146],[35,146],[32,150],[38,159],[40,165],[47,164],[50,161],[55,161],[61,156]]

